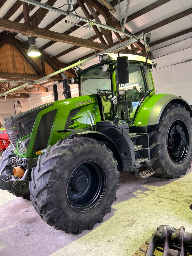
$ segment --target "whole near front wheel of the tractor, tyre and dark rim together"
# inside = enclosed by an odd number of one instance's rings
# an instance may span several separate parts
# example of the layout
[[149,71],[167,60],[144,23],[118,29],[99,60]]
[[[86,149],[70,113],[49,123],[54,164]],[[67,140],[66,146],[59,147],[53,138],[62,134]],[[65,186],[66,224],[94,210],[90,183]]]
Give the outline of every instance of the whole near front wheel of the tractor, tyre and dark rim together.
[[81,234],[111,211],[118,177],[117,161],[103,143],[84,137],[60,140],[32,169],[31,201],[50,226]]

